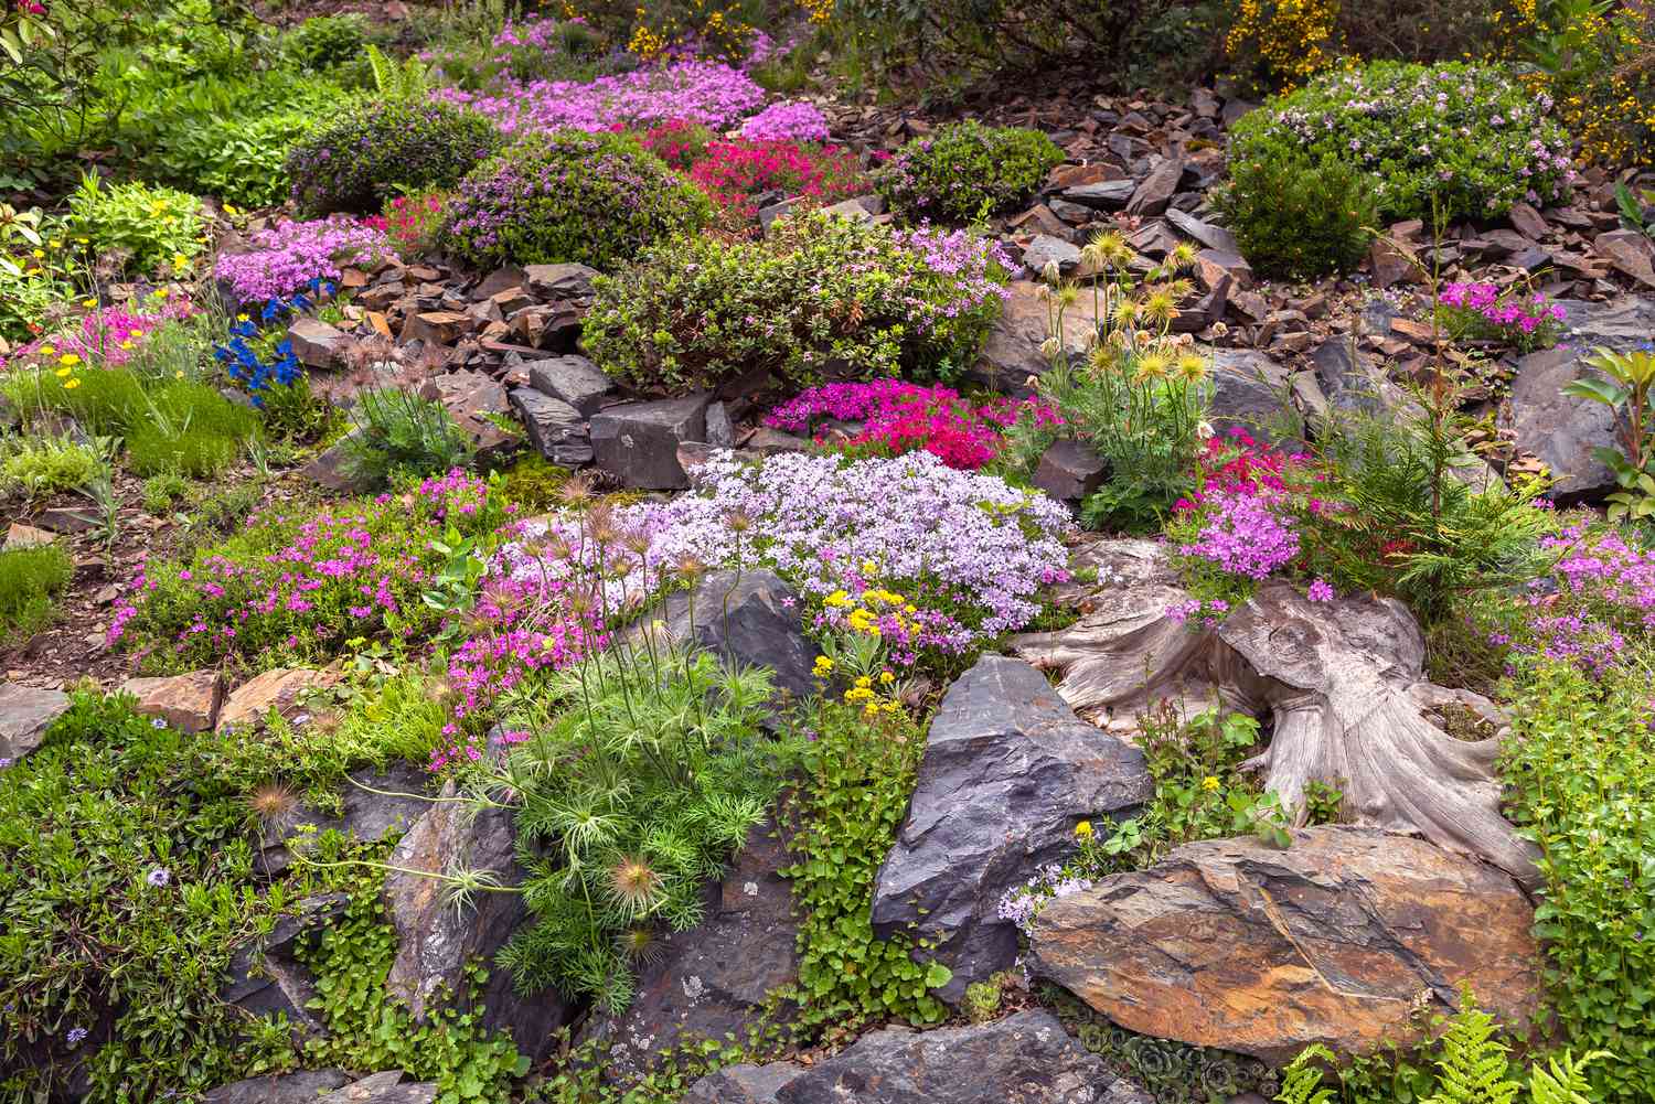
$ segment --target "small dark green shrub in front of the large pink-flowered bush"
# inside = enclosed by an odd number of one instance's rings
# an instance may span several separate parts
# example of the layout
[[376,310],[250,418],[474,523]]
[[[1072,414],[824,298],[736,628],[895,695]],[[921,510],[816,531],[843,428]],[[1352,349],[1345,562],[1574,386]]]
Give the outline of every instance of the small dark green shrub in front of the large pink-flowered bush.
[[1374,182],[1350,161],[1278,151],[1231,159],[1215,205],[1248,263],[1289,280],[1350,271],[1379,222]]

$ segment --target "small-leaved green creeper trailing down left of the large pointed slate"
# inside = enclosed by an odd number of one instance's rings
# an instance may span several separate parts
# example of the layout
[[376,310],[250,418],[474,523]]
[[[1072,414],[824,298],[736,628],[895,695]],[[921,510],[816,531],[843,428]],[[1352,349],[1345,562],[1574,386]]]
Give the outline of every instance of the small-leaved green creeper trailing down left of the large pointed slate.
[[925,730],[902,712],[823,702],[803,718],[814,730],[806,780],[789,801],[798,831],[788,841],[799,912],[799,998],[806,1026],[851,1028],[867,1020],[940,1023],[932,990],[948,970],[914,960],[905,935],[879,938],[869,922],[885,852],[907,814]]

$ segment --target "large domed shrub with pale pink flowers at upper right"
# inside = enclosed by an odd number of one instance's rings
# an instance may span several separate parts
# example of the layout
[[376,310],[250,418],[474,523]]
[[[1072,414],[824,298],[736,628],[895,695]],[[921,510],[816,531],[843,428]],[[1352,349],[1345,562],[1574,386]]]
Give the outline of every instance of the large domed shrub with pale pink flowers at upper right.
[[[1309,159],[1374,177],[1385,218],[1496,218],[1518,200],[1567,194],[1569,136],[1523,84],[1481,65],[1379,61],[1317,76],[1231,129],[1231,164]],[[1240,200],[1274,202],[1281,175],[1236,184]]]

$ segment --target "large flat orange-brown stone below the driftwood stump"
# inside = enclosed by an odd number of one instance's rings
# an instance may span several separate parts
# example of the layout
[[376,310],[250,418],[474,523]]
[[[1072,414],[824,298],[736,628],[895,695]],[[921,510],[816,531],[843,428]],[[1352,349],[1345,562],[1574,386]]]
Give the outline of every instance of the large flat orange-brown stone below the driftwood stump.
[[1293,846],[1187,844],[1048,904],[1034,968],[1155,1038],[1284,1063],[1420,1041],[1460,990],[1509,1030],[1537,1011],[1534,909],[1508,874],[1410,836],[1311,828]]

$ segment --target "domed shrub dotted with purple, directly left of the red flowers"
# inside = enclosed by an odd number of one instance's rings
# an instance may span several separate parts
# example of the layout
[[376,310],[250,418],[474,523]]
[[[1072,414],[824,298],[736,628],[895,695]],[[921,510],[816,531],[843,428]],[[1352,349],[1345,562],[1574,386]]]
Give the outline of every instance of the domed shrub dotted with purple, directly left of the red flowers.
[[472,172],[449,200],[440,240],[480,268],[631,260],[712,222],[712,202],[636,139],[558,131]]

